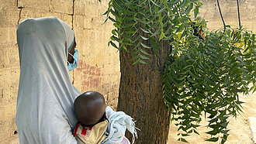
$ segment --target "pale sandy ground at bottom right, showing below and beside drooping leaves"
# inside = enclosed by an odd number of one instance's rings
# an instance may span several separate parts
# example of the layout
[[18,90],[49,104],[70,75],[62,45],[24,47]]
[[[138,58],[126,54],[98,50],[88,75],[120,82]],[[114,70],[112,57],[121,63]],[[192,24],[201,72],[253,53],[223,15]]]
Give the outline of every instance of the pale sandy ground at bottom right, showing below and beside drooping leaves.
[[[252,132],[250,129],[248,117],[256,117],[256,92],[249,96],[240,95],[240,100],[246,102],[242,105],[244,107],[244,114],[237,116],[237,118],[230,118],[230,124],[228,125],[228,129],[230,129],[230,135],[227,139],[226,144],[254,144],[254,141],[252,140]],[[198,128],[198,132],[200,135],[189,135],[186,137],[186,140],[192,144],[220,143],[205,141],[205,139],[210,138],[210,135],[204,133],[207,132],[207,128],[205,126],[206,124],[206,121],[204,121],[201,124],[202,126]],[[179,138],[177,134],[177,127],[172,123],[168,136],[168,144],[185,143],[177,141],[177,139]]]

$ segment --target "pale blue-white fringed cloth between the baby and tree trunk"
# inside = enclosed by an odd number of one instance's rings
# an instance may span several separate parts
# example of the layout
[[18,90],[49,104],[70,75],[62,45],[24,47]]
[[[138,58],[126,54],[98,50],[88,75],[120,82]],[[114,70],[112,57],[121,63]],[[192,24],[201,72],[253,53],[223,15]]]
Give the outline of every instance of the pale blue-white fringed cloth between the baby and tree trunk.
[[107,138],[102,144],[117,144],[122,142],[123,139],[126,139],[126,129],[133,134],[134,142],[135,137],[137,138],[137,128],[135,127],[133,118],[126,115],[123,111],[113,111],[110,107],[106,108],[106,115],[109,119],[109,126],[106,130]]

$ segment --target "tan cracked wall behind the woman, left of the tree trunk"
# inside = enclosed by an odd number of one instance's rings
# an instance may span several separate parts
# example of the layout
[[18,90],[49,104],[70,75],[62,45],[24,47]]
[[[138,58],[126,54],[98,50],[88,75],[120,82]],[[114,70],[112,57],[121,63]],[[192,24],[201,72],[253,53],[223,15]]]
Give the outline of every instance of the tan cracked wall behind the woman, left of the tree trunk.
[[79,52],[78,68],[70,73],[80,91],[104,94],[116,108],[119,89],[119,53],[107,46],[112,23],[105,21],[107,1],[0,0],[0,143],[19,143],[15,123],[19,86],[19,53],[16,27],[27,18],[57,16],[74,33]]

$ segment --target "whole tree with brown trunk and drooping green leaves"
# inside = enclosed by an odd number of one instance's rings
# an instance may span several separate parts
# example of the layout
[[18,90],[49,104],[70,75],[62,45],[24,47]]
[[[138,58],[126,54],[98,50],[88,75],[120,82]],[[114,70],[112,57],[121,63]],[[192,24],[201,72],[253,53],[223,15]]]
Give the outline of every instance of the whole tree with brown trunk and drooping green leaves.
[[212,135],[207,141],[224,143],[228,118],[241,111],[238,94],[256,91],[255,34],[224,21],[224,29],[202,34],[201,5],[198,0],[109,2],[105,14],[115,26],[109,44],[120,53],[118,110],[137,120],[137,143],[166,143],[170,120],[177,121],[178,140],[186,142],[185,136],[199,134],[202,116]]

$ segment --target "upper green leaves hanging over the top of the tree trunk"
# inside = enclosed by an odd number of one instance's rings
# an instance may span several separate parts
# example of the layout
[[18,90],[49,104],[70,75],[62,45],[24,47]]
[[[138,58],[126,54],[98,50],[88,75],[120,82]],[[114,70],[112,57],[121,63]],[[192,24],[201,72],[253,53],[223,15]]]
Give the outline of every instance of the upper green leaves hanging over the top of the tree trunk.
[[160,49],[160,40],[171,41],[180,32],[185,35],[184,29],[191,25],[189,12],[195,7],[197,15],[200,5],[197,0],[111,0],[105,13],[115,26],[109,44],[132,53],[133,64],[146,63],[147,51]]

